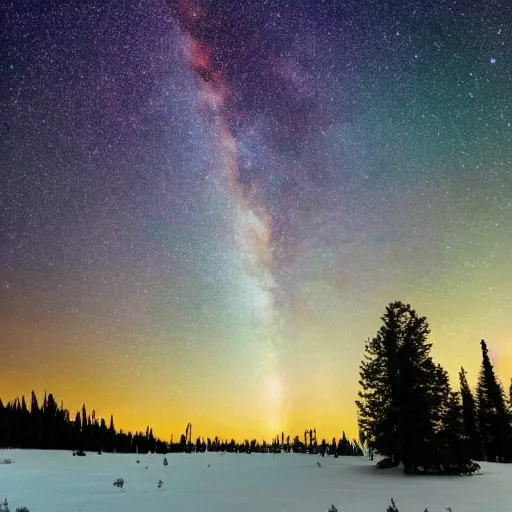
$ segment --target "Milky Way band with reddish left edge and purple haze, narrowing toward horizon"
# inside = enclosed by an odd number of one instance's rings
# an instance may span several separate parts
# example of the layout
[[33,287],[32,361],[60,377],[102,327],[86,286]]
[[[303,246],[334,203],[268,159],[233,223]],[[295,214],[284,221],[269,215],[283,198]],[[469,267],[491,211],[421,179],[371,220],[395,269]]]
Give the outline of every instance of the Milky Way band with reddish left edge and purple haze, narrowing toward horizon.
[[255,364],[266,367],[262,391],[270,406],[269,430],[279,431],[287,425],[278,299],[289,298],[290,286],[282,285],[294,259],[293,237],[301,237],[300,229],[287,221],[293,215],[305,225],[302,210],[307,205],[301,195],[317,200],[315,181],[320,189],[323,175],[333,170],[319,151],[318,133],[334,121],[327,97],[320,94],[327,80],[314,51],[320,34],[305,27],[303,7],[294,12],[279,4],[171,5],[185,33],[184,54],[196,75],[200,105],[213,121],[216,149],[222,155],[218,170],[225,175],[221,180],[235,201],[233,229],[247,272],[247,300],[258,314],[254,327],[260,352]]

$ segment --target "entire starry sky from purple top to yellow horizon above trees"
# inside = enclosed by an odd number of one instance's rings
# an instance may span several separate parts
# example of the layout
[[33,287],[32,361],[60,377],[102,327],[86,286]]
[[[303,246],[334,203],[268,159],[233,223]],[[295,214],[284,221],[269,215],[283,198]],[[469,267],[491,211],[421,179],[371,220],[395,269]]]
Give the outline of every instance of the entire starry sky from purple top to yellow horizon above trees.
[[2,3],[0,396],[356,435],[392,300],[512,376],[512,4]]

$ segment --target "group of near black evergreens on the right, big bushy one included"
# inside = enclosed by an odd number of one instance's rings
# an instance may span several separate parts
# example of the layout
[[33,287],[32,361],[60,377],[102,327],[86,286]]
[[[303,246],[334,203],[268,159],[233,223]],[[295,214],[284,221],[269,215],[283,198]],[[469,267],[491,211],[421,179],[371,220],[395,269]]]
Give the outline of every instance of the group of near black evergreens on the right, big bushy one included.
[[[430,355],[425,317],[393,302],[383,326],[368,340],[360,366],[359,428],[381,467],[406,473],[473,473],[473,460],[512,460],[512,408],[506,401],[485,341],[476,393],[464,369],[460,390]],[[475,396],[476,395],[476,396]]]

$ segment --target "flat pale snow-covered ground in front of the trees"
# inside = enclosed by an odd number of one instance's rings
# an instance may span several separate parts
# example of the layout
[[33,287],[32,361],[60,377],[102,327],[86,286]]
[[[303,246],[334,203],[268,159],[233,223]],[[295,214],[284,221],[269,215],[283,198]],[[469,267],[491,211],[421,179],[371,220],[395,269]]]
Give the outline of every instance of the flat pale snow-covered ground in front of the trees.
[[[391,497],[400,512],[512,510],[512,465],[439,478],[379,471],[363,457],[170,454],[168,466],[152,454],[3,450],[4,458],[14,463],[0,465],[0,501],[7,496],[11,511],[326,512],[334,504],[340,512],[386,512]],[[117,478],[124,491],[113,486]]]

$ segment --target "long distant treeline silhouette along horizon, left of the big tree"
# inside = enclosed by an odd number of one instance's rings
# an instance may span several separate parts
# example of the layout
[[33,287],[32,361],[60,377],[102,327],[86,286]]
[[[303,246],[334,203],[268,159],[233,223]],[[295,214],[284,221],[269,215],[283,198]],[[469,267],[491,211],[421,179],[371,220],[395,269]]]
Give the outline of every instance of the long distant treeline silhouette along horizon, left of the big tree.
[[304,436],[293,439],[284,432],[277,435],[271,442],[256,439],[246,439],[237,442],[235,439],[226,440],[219,437],[213,439],[197,437],[192,441],[192,425],[189,423],[179,441],[163,441],[153,434],[149,426],[145,432],[117,431],[114,418],[111,415],[107,425],[104,418],[98,419],[93,410],[87,412],[86,405],[77,411],[74,420],[70,413],[60,406],[53,394],[44,395],[42,405],[32,391],[30,407],[25,397],[16,398],[4,406],[0,399],[0,447],[2,448],[31,448],[48,450],[73,450],[107,453],[180,453],[180,452],[231,452],[231,453],[311,453],[334,455],[363,455],[356,440],[347,439],[345,432],[339,440],[331,442],[322,439],[317,442],[316,429],[304,431]]

